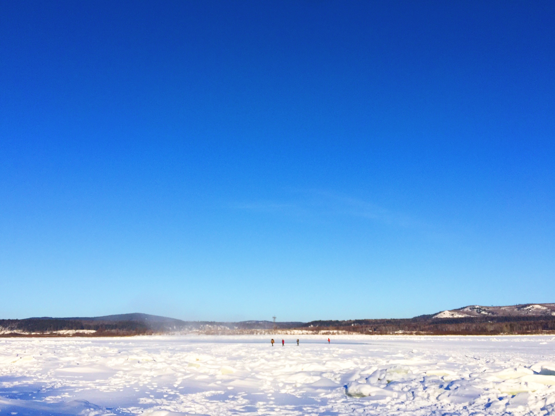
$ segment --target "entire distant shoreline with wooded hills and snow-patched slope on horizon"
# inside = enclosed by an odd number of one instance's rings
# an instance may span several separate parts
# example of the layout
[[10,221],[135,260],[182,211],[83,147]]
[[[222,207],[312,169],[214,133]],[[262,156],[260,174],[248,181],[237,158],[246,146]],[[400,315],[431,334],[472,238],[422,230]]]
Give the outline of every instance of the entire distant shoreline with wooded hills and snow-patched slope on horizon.
[[413,318],[276,321],[181,321],[145,313],[99,317],[0,319],[0,337],[205,335],[521,335],[555,334],[555,303],[466,306]]

